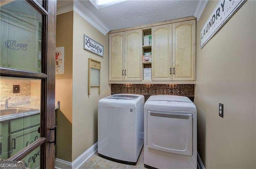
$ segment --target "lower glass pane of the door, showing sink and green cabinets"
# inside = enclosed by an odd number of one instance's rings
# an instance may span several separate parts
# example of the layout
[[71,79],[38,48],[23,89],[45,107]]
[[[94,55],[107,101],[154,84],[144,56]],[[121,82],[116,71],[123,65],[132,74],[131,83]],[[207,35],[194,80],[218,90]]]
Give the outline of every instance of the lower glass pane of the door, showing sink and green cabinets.
[[40,138],[41,80],[0,77],[1,159]]

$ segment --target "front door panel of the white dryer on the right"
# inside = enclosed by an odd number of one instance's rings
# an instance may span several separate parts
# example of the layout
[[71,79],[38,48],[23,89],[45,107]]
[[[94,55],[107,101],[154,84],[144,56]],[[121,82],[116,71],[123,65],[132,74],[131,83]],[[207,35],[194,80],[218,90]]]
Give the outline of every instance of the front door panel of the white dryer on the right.
[[168,153],[193,154],[193,115],[189,113],[147,112],[147,146]]

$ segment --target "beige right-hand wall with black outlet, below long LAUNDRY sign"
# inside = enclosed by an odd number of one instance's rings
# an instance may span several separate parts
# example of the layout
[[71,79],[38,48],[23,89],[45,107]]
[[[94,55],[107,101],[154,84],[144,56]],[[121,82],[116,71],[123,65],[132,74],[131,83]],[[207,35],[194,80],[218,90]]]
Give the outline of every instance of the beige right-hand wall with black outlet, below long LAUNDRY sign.
[[200,49],[200,29],[217,3],[209,1],[197,22],[198,151],[209,169],[256,168],[256,1]]

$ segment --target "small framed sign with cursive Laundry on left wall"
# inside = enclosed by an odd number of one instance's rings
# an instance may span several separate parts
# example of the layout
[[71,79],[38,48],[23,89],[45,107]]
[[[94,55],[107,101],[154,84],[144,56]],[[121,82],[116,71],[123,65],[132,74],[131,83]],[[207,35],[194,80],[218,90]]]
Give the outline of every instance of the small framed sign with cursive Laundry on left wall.
[[84,34],[84,49],[91,51],[93,53],[96,53],[97,55],[100,55],[103,57],[103,45],[100,45],[100,43],[94,41],[90,37],[86,36]]

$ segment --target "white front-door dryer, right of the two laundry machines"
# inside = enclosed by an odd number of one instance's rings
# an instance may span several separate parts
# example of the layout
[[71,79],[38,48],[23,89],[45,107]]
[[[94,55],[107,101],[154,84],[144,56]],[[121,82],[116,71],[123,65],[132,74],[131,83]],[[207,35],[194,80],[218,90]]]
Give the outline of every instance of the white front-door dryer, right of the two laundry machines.
[[196,106],[184,96],[150,96],[144,106],[144,165],[197,168]]

